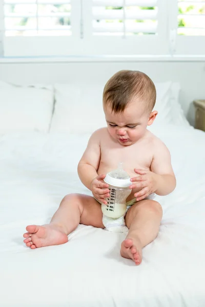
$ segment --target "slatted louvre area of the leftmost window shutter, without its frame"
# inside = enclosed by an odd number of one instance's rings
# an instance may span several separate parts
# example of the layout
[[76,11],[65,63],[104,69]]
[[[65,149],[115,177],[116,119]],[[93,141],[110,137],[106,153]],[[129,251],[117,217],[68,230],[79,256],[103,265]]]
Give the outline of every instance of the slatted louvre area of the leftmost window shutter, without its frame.
[[70,0],[4,0],[6,36],[71,35]]

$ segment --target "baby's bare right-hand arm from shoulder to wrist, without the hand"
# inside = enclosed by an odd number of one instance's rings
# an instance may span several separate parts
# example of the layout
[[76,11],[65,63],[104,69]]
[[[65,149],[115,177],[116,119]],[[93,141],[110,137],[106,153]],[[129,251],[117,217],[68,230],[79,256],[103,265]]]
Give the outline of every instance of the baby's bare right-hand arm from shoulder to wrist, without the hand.
[[154,155],[151,164],[151,171],[156,174],[155,193],[167,195],[176,187],[176,178],[171,165],[171,156],[167,146],[160,140],[156,140]]

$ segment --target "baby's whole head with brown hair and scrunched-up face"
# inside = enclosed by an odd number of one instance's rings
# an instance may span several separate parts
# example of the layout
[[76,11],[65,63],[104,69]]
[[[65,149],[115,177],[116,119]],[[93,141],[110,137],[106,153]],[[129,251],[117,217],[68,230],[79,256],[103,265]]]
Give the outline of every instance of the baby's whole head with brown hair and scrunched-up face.
[[146,74],[130,70],[114,74],[103,92],[110,135],[123,145],[137,142],[157,115],[152,112],[155,101],[156,89]]

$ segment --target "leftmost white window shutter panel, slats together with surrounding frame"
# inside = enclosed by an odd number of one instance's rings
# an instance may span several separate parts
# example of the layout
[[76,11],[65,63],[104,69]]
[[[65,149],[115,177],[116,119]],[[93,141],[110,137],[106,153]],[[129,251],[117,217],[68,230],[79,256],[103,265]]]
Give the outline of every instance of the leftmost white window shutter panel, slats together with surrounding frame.
[[75,54],[80,45],[80,0],[4,0],[6,56]]

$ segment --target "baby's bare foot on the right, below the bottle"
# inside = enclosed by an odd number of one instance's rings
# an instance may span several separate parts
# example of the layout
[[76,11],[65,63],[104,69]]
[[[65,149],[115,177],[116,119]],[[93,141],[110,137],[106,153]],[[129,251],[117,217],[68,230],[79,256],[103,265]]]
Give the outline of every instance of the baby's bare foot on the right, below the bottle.
[[140,265],[141,263],[141,244],[140,241],[133,239],[125,239],[121,244],[120,255],[124,258],[132,259],[135,265]]

